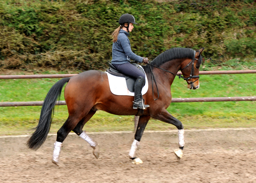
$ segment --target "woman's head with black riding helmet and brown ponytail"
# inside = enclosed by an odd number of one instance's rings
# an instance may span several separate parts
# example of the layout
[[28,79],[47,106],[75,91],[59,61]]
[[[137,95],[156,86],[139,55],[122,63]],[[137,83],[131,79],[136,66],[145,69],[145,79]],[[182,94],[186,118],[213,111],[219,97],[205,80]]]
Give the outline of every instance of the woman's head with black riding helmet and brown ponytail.
[[137,24],[135,22],[135,18],[128,13],[123,14],[119,18],[118,23],[120,24],[120,26],[112,33],[114,43],[117,41],[117,36],[118,36],[120,29],[125,30],[129,34],[129,32],[131,32],[133,29],[133,24]]

